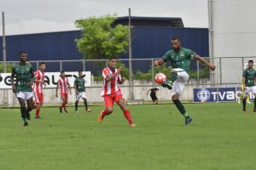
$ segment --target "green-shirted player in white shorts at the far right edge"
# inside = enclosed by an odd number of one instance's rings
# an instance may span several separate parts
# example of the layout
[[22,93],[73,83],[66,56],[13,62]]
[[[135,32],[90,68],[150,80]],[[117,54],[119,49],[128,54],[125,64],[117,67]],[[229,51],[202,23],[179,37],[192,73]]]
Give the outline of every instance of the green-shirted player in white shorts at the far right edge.
[[256,112],[256,71],[253,69],[253,60],[248,61],[248,68],[242,72],[242,84],[243,84],[243,99],[242,99],[242,111],[246,112],[247,96],[250,92],[254,95],[254,109]]

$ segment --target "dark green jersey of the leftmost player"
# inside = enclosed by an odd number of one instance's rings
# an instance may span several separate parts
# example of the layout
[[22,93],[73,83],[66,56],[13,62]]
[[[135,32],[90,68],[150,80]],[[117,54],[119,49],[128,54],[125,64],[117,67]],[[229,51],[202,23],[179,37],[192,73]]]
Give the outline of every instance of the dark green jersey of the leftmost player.
[[32,65],[14,65],[12,71],[15,73],[16,88],[19,92],[32,92],[32,87],[27,87],[28,82],[32,82]]

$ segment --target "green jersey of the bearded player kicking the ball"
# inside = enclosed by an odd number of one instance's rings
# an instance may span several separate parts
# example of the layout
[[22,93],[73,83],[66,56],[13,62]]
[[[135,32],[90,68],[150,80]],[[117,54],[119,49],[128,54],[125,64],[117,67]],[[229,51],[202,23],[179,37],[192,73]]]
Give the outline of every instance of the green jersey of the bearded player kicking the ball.
[[181,48],[179,51],[169,50],[163,56],[165,61],[170,60],[172,68],[180,68],[184,71],[189,72],[190,70],[190,59],[195,57],[195,52],[191,51],[189,48]]

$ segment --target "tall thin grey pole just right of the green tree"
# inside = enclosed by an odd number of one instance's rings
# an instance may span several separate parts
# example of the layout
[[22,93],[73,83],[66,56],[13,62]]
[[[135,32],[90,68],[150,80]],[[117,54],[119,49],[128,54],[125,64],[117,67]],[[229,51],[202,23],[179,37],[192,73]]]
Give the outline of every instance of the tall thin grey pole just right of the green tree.
[[129,83],[130,83],[130,100],[133,99],[133,74],[132,74],[132,48],[131,48],[131,8],[129,8]]

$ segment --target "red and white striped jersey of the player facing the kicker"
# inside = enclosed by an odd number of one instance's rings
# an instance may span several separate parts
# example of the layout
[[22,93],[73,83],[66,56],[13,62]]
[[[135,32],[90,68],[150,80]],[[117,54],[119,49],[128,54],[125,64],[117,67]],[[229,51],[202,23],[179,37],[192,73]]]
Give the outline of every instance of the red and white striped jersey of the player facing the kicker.
[[116,71],[117,71],[117,69],[114,69],[114,71],[111,71],[108,67],[103,69],[103,71],[102,71],[102,77],[103,77],[102,96],[114,94],[115,92],[120,91],[120,88],[119,88],[119,82],[121,81],[120,74],[108,82],[106,80],[107,77],[113,75]]

